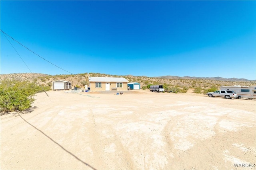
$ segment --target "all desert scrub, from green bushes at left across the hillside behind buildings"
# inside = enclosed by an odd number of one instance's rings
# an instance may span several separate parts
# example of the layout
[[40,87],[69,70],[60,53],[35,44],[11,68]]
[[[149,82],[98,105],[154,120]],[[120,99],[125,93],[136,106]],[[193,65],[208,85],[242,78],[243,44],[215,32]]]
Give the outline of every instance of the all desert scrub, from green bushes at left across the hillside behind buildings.
[[[89,85],[89,76],[92,77],[124,77],[129,82],[138,82],[143,90],[149,89],[150,85],[162,84],[165,90],[175,93],[186,93],[188,89],[193,89],[194,93],[213,92],[220,86],[255,86],[256,81],[223,81],[198,79],[170,79],[151,78],[147,76],[132,75],[110,75],[101,73],[81,73],[81,74],[37,74],[18,73],[0,74],[1,82],[1,112],[24,110],[31,106],[34,101],[33,96],[38,92],[52,89],[52,82],[55,80],[65,80],[72,82],[72,86],[84,87]],[[42,86],[42,87],[41,87]]]

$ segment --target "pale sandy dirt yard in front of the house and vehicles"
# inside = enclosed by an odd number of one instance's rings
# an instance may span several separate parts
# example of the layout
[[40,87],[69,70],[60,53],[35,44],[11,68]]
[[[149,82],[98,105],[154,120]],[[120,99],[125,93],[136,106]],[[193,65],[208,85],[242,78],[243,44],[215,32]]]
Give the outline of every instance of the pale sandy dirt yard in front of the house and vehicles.
[[1,169],[256,169],[255,100],[47,93],[0,117]]

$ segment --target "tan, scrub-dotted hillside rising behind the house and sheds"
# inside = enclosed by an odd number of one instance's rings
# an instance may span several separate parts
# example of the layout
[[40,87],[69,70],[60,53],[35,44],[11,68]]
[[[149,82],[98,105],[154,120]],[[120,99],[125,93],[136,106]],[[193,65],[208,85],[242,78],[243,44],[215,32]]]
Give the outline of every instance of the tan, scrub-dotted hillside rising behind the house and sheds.
[[40,83],[41,85],[52,86],[52,82],[55,80],[65,80],[72,82],[72,87],[83,87],[84,85],[89,85],[89,76],[96,77],[124,77],[129,82],[139,82],[141,87],[146,86],[148,84],[166,84],[171,87],[178,88],[196,88],[202,87],[203,89],[210,88],[212,86],[220,87],[220,86],[256,86],[256,81],[224,81],[224,80],[209,80],[204,78],[179,78],[179,77],[147,77],[147,76],[118,76],[118,75],[109,75],[109,74],[100,74],[100,73],[82,73],[82,74],[62,74],[62,75],[48,75],[48,74],[38,74],[38,73],[18,73],[18,74],[0,74],[0,80],[10,79],[10,80],[18,80],[18,81],[29,81]]

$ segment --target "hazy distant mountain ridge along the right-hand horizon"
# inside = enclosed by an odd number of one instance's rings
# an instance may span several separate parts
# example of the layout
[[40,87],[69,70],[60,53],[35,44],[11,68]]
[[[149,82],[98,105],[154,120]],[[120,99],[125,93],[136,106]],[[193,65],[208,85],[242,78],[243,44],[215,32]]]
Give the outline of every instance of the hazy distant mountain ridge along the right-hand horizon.
[[202,79],[202,80],[217,80],[217,81],[228,81],[228,82],[246,82],[246,81],[255,81],[255,80],[248,80],[245,78],[222,78],[222,77],[190,77],[190,76],[159,76],[159,77],[152,77],[152,78],[163,78],[163,79]]

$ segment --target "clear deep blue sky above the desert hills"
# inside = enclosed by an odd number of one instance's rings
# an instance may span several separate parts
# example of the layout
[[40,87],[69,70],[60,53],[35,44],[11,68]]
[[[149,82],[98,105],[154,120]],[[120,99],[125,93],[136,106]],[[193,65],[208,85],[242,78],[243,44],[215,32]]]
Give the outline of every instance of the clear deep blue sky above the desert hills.
[[[32,72],[256,79],[256,1],[0,1]],[[1,74],[30,72],[1,32]]]

